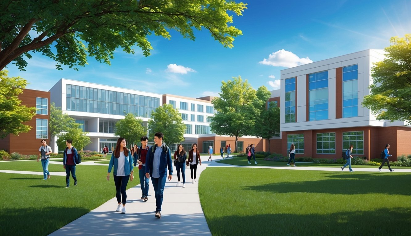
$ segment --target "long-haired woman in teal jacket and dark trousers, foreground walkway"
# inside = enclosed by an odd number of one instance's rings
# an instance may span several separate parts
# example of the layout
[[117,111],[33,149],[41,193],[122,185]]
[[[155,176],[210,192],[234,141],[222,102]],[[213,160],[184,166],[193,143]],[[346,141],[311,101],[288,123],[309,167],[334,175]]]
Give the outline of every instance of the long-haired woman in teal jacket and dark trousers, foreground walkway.
[[[110,180],[110,172],[114,166],[114,184],[115,184],[115,197],[117,197],[117,210],[121,211],[122,214],[126,213],[126,188],[127,183],[133,181],[133,157],[131,156],[130,150],[126,147],[127,143],[124,138],[118,138],[115,149],[111,154],[111,159],[109,163],[109,170],[107,172],[107,181]],[[121,205],[122,203],[122,205]]]

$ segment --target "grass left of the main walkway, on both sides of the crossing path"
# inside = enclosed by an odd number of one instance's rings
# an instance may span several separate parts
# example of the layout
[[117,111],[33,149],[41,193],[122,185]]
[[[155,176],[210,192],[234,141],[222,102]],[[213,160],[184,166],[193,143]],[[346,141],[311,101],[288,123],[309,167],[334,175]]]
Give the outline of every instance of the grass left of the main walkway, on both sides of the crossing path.
[[[78,186],[66,186],[65,176],[0,173],[0,235],[48,235],[115,197],[113,178],[106,180],[107,166],[76,167]],[[42,171],[37,161],[0,163],[1,170]],[[49,171],[65,171],[50,164]],[[139,184],[139,178],[127,188]],[[113,211],[116,205],[113,205]]]

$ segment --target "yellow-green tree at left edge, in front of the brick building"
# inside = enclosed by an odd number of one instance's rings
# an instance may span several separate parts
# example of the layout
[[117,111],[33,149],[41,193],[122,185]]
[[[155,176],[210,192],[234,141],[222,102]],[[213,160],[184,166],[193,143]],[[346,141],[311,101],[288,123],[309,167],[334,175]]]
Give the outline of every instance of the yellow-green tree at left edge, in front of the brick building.
[[27,81],[20,77],[7,77],[7,70],[0,71],[0,79],[0,138],[29,132],[32,127],[23,122],[32,119],[36,108],[23,106],[18,99]]

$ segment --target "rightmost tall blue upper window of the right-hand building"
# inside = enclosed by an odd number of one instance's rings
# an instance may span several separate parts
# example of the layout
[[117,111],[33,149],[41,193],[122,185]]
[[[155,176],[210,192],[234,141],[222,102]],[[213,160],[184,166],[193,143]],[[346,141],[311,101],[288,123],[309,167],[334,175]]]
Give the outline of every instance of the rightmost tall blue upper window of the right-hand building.
[[358,65],[342,68],[342,117],[358,116]]

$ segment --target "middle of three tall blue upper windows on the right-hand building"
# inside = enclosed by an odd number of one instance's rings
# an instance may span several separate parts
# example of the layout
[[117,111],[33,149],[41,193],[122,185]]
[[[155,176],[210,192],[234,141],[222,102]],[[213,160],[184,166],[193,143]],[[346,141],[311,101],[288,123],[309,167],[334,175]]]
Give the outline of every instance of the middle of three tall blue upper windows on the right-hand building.
[[328,70],[308,75],[309,120],[328,119]]

